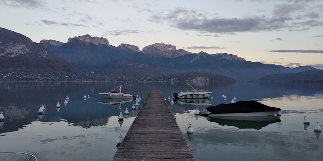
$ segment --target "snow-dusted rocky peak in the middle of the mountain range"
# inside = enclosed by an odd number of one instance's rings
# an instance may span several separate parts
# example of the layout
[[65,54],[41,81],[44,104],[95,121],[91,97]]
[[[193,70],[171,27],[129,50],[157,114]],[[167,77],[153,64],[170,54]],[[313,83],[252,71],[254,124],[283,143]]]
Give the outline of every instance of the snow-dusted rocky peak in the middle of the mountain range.
[[149,46],[145,46],[142,51],[144,55],[149,55],[152,57],[167,57],[174,58],[177,56],[182,56],[191,52],[187,52],[183,49],[176,50],[176,47],[171,44],[165,43],[154,43]]

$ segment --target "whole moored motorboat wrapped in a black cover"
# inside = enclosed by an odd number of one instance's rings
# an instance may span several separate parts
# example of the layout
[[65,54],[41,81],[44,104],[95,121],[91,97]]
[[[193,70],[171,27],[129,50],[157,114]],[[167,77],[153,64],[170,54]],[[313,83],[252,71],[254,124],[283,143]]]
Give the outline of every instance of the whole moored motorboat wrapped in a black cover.
[[234,103],[221,103],[216,106],[209,106],[205,113],[209,117],[253,117],[274,115],[280,108],[270,107],[258,101],[237,101]]

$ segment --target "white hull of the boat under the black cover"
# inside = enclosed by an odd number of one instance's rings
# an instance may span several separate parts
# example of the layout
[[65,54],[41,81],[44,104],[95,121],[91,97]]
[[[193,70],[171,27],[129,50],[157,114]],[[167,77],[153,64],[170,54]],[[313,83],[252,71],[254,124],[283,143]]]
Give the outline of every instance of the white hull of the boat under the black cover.
[[278,111],[265,111],[265,112],[245,112],[245,113],[221,113],[221,114],[209,114],[210,117],[255,117],[255,116],[269,116],[275,115]]

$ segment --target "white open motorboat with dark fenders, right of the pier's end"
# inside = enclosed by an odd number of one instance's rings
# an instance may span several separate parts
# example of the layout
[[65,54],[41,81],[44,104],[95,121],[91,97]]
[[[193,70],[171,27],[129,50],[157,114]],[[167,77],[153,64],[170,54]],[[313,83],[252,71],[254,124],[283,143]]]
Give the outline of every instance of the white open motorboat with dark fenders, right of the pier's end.
[[212,90],[198,90],[194,89],[190,84],[186,83],[192,90],[186,92],[174,93],[175,99],[205,99],[211,96]]

